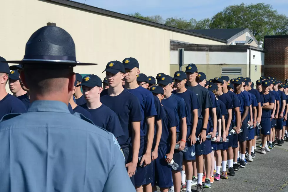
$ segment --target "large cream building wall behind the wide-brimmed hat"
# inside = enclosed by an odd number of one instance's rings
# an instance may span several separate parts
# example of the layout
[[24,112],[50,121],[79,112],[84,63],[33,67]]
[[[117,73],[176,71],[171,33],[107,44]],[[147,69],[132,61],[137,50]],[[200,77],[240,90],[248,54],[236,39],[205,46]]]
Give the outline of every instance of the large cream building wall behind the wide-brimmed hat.
[[170,71],[170,39],[194,44],[224,44],[196,36],[112,18],[62,6],[49,1],[0,1],[0,53],[6,60],[23,59],[25,44],[34,31],[56,23],[71,34],[76,45],[76,58],[96,66],[77,66],[81,74],[101,72],[109,61],[134,57],[140,72],[155,76]]

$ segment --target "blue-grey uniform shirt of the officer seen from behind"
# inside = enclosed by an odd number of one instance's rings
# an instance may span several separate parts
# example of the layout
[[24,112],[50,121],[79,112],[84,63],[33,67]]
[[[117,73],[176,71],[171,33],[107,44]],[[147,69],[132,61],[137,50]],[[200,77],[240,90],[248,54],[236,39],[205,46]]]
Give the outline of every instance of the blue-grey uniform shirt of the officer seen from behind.
[[60,101],[0,122],[0,191],[135,191],[112,133]]

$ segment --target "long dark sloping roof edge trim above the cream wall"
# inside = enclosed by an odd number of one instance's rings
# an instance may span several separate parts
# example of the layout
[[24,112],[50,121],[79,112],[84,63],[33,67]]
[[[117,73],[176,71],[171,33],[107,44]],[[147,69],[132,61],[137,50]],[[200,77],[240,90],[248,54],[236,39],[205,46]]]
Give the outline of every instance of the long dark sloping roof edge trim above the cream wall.
[[106,10],[106,9],[93,7],[93,6],[82,4],[82,3],[78,3],[78,2],[75,2],[75,1],[69,1],[69,0],[38,0],[38,1],[44,1],[44,2],[48,2],[48,3],[58,4],[58,5],[61,5],[61,6],[66,6],[66,7],[71,7],[71,8],[74,8],[74,9],[88,11],[88,12],[91,12],[91,13],[94,13],[94,14],[99,14],[99,15],[103,15],[103,16],[109,16],[109,17],[122,19],[122,20],[130,21],[130,22],[135,22],[135,23],[139,23],[139,24],[144,24],[144,25],[148,25],[148,26],[157,27],[157,28],[160,28],[160,29],[165,29],[165,30],[168,30],[168,31],[174,31],[174,32],[178,32],[178,33],[182,33],[182,34],[186,34],[186,35],[191,35],[191,36],[201,37],[201,38],[204,38],[204,39],[210,39],[210,40],[213,40],[213,41],[227,43],[227,41],[223,40],[223,39],[217,39],[215,37],[210,37],[210,36],[206,36],[206,35],[202,35],[202,34],[193,33],[193,32],[190,32],[190,31],[183,30],[183,29],[178,29],[178,28],[170,27],[170,26],[167,26],[167,25],[159,24],[159,23],[154,23],[152,21],[146,21],[144,19],[139,19],[139,18],[136,18],[136,17],[125,15],[125,14],[120,14],[120,13],[117,13],[117,12],[114,12],[114,11],[109,11],[109,10]]

